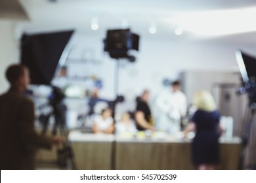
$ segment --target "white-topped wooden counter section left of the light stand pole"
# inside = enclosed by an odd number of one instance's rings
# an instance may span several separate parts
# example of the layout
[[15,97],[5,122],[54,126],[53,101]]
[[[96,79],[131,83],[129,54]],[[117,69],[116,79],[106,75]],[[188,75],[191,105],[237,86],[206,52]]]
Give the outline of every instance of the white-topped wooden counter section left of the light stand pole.
[[110,170],[114,135],[70,133],[74,160],[79,170]]

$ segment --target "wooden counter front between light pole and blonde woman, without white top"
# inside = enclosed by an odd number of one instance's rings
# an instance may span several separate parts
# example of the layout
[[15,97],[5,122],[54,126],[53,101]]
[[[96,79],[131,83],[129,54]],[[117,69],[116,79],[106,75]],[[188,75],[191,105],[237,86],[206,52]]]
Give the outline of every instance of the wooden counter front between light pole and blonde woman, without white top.
[[194,169],[190,146],[181,143],[129,142],[116,144],[116,169]]

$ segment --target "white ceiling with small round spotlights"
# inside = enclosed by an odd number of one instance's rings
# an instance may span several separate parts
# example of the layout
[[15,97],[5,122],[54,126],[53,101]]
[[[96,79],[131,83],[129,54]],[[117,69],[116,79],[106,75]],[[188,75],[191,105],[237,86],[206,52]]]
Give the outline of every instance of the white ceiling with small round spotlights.
[[[25,31],[74,28],[104,36],[107,29],[130,27],[143,37],[214,40],[226,44],[256,42],[255,0],[19,0],[30,22]],[[92,23],[98,29],[91,29]],[[253,25],[255,24],[255,25]],[[156,33],[149,33],[156,27]],[[175,35],[181,28],[182,35]],[[231,29],[229,29],[231,28]]]

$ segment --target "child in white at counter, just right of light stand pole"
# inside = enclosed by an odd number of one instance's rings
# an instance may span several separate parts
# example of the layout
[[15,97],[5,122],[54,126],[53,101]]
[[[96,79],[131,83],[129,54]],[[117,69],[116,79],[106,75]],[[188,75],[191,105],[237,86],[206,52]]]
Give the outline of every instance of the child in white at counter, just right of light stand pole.
[[117,134],[121,134],[121,133],[135,134],[136,132],[137,132],[137,129],[135,127],[133,120],[131,120],[130,114],[125,112],[121,116],[121,120],[116,124],[116,133]]

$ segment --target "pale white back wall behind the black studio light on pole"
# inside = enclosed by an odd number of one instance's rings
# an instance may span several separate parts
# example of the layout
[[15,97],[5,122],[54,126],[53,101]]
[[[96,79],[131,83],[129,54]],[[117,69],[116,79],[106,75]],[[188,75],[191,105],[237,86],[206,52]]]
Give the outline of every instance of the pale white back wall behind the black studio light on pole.
[[[114,59],[103,53],[104,35],[85,35],[75,33],[74,54],[71,57],[81,58],[85,50],[93,50],[94,58],[100,61],[101,67],[96,66],[96,75],[104,78],[102,95],[112,97],[115,84]],[[157,95],[163,90],[163,79],[179,78],[182,71],[226,71],[238,72],[235,57],[236,48],[213,41],[184,41],[150,39],[140,37],[140,51],[135,63],[121,61],[119,67],[119,93],[132,99],[144,88]],[[81,69],[81,65],[73,70]],[[91,69],[93,69],[91,67]],[[87,72],[87,71],[84,71]],[[90,72],[90,71],[88,71]]]

